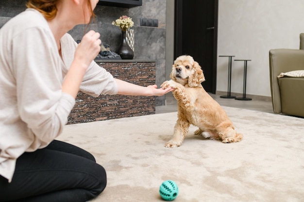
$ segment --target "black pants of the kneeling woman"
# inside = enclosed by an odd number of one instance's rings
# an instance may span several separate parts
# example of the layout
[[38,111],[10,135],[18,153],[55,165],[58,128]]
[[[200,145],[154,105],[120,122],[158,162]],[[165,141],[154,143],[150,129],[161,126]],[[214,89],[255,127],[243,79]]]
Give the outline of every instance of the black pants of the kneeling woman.
[[0,175],[0,202],[85,202],[105,186],[105,170],[93,155],[54,140],[21,155],[11,183]]

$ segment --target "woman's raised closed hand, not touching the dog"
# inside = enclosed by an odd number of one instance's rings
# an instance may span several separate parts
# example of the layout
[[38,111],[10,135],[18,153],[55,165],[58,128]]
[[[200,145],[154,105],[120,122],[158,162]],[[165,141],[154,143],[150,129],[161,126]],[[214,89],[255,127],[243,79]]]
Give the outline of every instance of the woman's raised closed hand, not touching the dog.
[[87,68],[101,50],[101,40],[99,37],[100,33],[93,30],[84,34],[84,37],[76,48],[74,60],[77,60],[80,64],[84,64],[84,67]]

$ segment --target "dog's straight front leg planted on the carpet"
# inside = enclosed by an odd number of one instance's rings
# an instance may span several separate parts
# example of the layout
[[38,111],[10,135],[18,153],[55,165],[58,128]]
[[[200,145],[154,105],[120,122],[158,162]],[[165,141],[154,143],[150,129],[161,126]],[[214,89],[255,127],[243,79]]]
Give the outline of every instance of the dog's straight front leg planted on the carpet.
[[171,140],[169,140],[166,144],[165,147],[178,147],[181,146],[181,144],[183,143],[188,130],[189,130],[189,126],[190,123],[182,120],[182,119],[178,119],[175,126],[174,126],[174,134],[171,138]]

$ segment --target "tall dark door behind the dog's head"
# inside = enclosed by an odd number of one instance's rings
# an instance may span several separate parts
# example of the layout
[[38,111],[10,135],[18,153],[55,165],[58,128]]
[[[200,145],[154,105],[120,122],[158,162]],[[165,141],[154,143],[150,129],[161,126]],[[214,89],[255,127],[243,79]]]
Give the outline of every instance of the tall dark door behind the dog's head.
[[218,0],[175,0],[174,58],[190,55],[203,69],[204,89],[216,93]]

